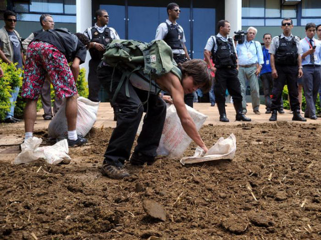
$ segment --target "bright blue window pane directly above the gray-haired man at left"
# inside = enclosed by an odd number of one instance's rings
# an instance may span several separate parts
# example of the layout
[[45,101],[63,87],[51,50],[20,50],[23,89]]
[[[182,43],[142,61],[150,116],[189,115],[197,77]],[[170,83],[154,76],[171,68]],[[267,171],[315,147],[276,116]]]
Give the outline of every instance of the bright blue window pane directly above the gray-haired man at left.
[[63,0],[31,0],[30,11],[64,13]]

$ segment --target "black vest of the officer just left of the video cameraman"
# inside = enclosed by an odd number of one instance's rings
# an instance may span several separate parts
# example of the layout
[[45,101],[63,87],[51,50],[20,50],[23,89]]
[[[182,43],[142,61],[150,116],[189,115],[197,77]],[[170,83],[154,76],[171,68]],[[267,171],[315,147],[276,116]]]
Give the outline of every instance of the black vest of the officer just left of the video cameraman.
[[217,50],[214,53],[212,48],[212,59],[216,68],[221,67],[236,67],[236,53],[233,47],[233,40],[228,38],[228,41],[223,41],[221,38],[216,38]]

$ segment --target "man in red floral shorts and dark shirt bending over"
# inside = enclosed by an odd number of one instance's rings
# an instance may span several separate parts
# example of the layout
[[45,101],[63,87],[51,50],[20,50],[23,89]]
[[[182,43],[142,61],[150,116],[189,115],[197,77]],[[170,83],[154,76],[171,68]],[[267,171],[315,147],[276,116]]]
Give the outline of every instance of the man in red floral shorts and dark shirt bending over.
[[[33,136],[37,116],[37,100],[48,74],[55,94],[66,98],[66,118],[69,146],[79,146],[87,139],[76,132],[77,88],[79,65],[85,61],[88,38],[82,33],[73,34],[66,28],[43,31],[28,45],[22,97],[25,107],[25,139]],[[69,67],[68,63],[71,63]]]

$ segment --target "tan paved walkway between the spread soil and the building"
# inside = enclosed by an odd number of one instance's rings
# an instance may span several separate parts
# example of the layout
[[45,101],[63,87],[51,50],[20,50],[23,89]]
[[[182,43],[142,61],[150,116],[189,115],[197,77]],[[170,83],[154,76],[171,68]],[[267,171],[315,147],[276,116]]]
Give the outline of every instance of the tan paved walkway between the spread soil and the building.
[[[210,103],[194,103],[194,108],[208,116],[205,124],[215,124],[215,125],[222,125],[222,124],[229,124],[229,125],[236,125],[240,124],[240,121],[235,121],[235,110],[232,103],[227,103],[226,112],[227,117],[230,119],[230,122],[220,122],[219,121],[219,112],[217,106],[210,106]],[[265,114],[265,106],[261,105],[260,111],[261,114],[257,115],[252,111],[251,103],[248,103],[248,113],[246,114],[247,117],[252,118],[252,123],[262,123],[262,122],[269,122],[269,117],[271,114]],[[45,121],[42,117],[43,110],[38,111],[37,113],[37,120],[35,124],[35,131],[44,129],[48,127],[50,121]],[[289,113],[289,110],[285,110],[285,114],[278,114],[278,120],[283,121],[292,121],[292,114]],[[321,123],[321,117],[316,120],[307,119],[306,123]],[[94,127],[115,127],[116,122],[113,121],[113,110],[110,107],[108,102],[102,102],[99,104],[98,114],[97,114],[97,121],[94,124]],[[20,123],[0,123],[1,129],[20,129],[23,131],[24,129],[24,122]],[[17,144],[22,142],[23,134],[3,134],[0,132],[0,146],[8,145],[8,144]]]

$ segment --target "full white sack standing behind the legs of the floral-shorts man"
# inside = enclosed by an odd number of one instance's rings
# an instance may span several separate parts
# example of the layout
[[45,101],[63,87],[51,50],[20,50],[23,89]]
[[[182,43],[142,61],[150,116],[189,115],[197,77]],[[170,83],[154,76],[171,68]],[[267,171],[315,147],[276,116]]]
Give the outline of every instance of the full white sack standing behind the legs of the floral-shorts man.
[[[97,119],[99,102],[91,101],[85,97],[77,98],[77,134],[87,135]],[[52,118],[48,126],[49,137],[59,138],[66,136],[68,131],[66,118],[66,100],[64,99],[58,112]]]

